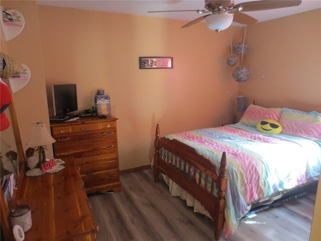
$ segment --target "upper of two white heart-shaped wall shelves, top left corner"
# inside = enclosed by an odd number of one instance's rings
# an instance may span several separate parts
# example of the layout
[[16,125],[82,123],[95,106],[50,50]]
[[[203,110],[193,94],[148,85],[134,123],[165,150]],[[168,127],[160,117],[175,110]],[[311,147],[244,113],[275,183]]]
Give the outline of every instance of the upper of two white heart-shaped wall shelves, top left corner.
[[4,30],[4,35],[6,41],[12,40],[17,37],[25,27],[25,18],[17,10],[9,9],[4,11],[4,8],[1,8],[2,18],[1,25]]

